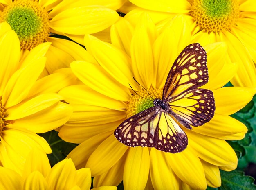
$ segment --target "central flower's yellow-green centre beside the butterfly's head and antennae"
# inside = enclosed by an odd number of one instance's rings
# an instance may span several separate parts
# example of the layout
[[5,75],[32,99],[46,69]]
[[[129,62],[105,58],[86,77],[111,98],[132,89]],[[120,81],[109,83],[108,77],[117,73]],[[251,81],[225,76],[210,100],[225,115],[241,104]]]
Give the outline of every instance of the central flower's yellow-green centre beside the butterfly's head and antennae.
[[[139,92],[137,92],[139,95],[135,94],[132,96],[130,102],[128,103],[128,106],[126,108],[126,117],[129,118],[130,116],[133,116],[135,114],[138,114],[141,111],[144,111],[145,109],[148,109],[150,107],[153,107],[153,99],[155,98],[162,98],[163,90],[158,90],[154,88],[150,88],[146,90],[141,89]],[[152,96],[152,98],[150,98]],[[142,97],[144,98],[142,98]],[[146,98],[146,99],[145,99]]]

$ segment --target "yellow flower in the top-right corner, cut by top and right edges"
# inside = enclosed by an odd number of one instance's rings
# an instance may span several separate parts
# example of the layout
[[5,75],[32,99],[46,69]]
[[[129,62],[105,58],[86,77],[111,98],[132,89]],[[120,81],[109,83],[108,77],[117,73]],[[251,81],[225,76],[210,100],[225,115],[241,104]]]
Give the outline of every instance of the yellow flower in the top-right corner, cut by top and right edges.
[[[135,24],[147,12],[158,28],[183,14],[195,41],[202,45],[225,41],[232,62],[238,63],[234,86],[256,87],[256,9],[253,0],[130,0],[138,7],[125,18]],[[126,9],[126,8],[124,8]],[[125,10],[124,10],[125,11]]]

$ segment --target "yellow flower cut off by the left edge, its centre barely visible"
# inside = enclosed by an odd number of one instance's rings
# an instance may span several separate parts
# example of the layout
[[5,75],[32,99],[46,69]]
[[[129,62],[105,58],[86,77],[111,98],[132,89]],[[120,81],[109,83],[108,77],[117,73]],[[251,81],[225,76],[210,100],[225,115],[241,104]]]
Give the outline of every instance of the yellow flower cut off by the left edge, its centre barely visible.
[[6,22],[0,24],[0,162],[18,173],[32,148],[52,152],[36,133],[61,126],[72,113],[56,94],[73,83],[72,76],[56,73],[38,79],[49,46],[40,44],[20,60],[18,36]]

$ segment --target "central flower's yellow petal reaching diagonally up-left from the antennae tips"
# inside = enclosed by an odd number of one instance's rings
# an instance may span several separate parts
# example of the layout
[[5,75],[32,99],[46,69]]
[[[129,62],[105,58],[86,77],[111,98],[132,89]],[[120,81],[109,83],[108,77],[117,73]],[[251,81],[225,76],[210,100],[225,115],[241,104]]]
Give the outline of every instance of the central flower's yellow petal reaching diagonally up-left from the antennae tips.
[[129,87],[129,84],[135,83],[132,79],[131,59],[126,53],[112,44],[99,40],[92,40],[90,42],[90,50],[102,68],[119,83],[126,87]]

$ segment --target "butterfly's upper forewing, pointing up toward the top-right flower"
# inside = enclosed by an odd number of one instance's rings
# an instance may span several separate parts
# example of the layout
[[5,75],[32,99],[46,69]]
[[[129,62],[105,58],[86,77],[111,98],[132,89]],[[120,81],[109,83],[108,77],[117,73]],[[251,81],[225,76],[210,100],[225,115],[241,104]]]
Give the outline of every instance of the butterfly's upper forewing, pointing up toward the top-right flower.
[[206,52],[200,44],[186,46],[171,67],[162,99],[173,99],[188,90],[206,84],[208,82],[206,61]]

